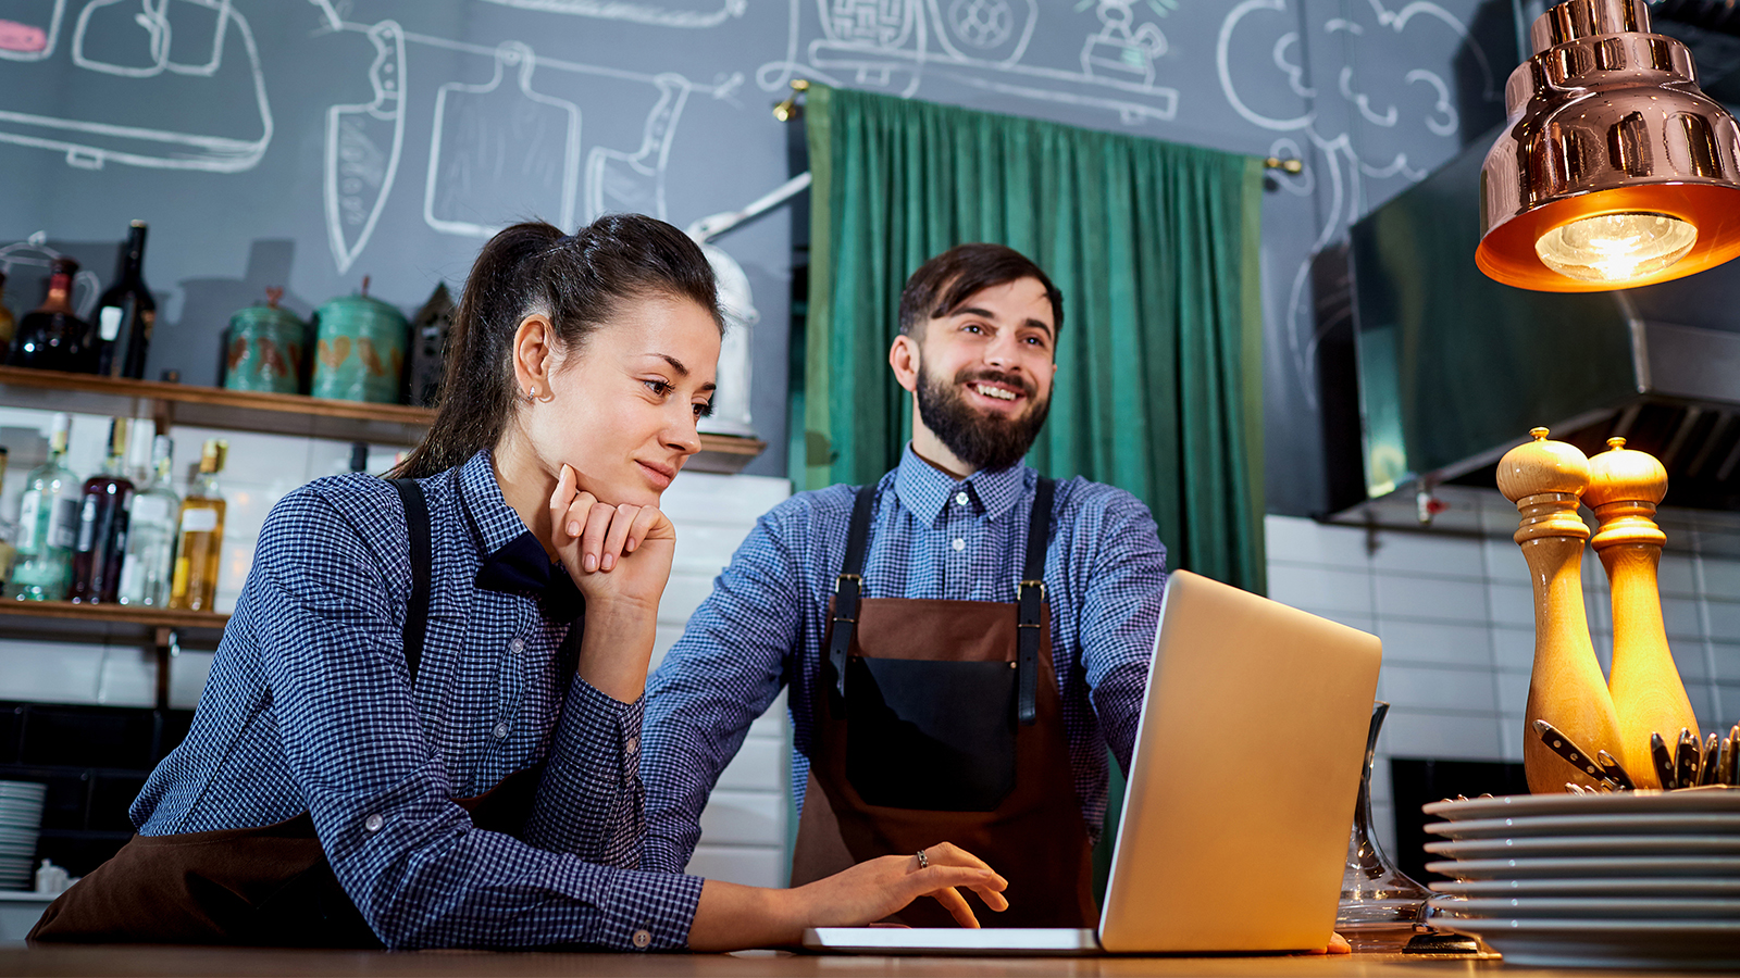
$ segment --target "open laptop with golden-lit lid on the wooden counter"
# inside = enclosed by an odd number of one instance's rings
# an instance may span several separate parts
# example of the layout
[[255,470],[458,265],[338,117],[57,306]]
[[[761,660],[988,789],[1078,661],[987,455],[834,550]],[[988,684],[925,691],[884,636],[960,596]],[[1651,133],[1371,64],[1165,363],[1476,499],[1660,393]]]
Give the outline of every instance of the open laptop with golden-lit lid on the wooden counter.
[[1335,929],[1380,661],[1375,635],[1176,571],[1154,637],[1100,926],[811,928],[804,947],[971,955],[1322,948]]

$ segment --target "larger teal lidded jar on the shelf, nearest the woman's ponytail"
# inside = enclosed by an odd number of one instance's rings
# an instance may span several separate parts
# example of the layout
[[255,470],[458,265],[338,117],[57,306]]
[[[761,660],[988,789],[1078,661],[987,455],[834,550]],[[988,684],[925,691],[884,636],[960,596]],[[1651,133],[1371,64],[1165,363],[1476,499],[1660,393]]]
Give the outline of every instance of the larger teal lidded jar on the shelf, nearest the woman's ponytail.
[[393,306],[364,296],[315,310],[315,381],[308,393],[398,404],[409,324]]

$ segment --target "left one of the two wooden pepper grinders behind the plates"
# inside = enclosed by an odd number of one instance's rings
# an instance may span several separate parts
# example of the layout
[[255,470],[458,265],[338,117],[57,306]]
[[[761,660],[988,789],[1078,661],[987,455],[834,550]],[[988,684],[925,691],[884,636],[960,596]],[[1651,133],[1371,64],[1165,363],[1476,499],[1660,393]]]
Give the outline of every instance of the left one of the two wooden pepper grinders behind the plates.
[[1589,640],[1583,611],[1583,541],[1589,527],[1576,503],[1589,487],[1589,459],[1576,447],[1549,442],[1547,428],[1529,432],[1498,461],[1498,491],[1522,515],[1514,539],[1535,586],[1535,670],[1524,712],[1522,771],[1528,790],[1561,794],[1564,783],[1594,787],[1535,736],[1535,720],[1564,731],[1583,750],[1618,750],[1618,720],[1606,677]]

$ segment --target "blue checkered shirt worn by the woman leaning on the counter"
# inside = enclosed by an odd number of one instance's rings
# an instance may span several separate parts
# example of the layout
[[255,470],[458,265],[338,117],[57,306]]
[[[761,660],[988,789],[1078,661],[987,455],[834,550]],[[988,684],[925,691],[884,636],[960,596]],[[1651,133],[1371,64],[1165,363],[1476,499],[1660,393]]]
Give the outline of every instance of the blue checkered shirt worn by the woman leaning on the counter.
[[[398,492],[360,473],[310,482],[266,517],[193,729],[134,825],[171,835],[311,813],[393,948],[684,947],[701,881],[637,868],[646,700],[576,677],[569,623],[536,597],[473,586],[484,557],[527,533],[487,452],[421,484],[433,579],[416,689]],[[452,802],[541,760],[524,842]]]

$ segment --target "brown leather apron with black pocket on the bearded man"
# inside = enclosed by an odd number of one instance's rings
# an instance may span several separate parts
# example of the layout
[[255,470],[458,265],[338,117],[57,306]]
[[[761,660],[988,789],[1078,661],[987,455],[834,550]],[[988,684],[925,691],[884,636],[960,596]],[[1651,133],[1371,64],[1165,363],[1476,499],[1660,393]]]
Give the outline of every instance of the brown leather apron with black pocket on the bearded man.
[[[828,604],[823,691],[792,886],[954,842],[1009,881],[992,928],[1091,928],[1093,854],[1044,602],[1053,482],[1039,480],[1018,600],[863,599],[875,484],[858,491]],[[952,928],[934,900],[893,917]]]

